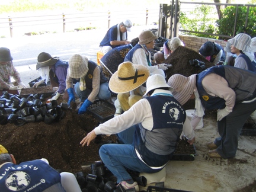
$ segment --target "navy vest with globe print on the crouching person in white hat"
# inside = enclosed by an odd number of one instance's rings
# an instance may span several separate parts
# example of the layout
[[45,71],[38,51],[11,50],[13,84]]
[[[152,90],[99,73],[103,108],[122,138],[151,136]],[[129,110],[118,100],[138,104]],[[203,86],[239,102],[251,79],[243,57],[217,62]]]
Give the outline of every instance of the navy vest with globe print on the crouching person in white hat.
[[171,158],[183,131],[185,110],[174,97],[155,95],[147,97],[153,114],[152,130],[136,127],[133,144],[143,161],[151,167],[161,167]]

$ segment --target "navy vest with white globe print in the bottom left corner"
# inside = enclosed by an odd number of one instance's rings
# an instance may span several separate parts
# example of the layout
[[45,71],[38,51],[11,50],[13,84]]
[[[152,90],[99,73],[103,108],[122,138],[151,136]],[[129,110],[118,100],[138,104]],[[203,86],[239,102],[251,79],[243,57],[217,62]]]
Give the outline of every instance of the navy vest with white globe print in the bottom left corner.
[[[39,159],[0,168],[1,191],[44,191],[60,183],[60,174]],[[59,191],[65,191],[60,185]]]

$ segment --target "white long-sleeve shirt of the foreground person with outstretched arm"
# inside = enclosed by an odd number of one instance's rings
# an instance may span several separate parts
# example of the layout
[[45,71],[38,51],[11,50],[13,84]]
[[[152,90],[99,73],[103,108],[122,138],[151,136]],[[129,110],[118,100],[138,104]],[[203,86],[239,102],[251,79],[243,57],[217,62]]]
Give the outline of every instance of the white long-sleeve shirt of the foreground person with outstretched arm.
[[[152,96],[161,93],[170,94],[171,92],[162,89],[156,89]],[[135,103],[129,110],[125,111],[120,116],[116,116],[113,119],[100,124],[98,127],[95,127],[94,131],[96,135],[112,135],[120,133],[137,123],[142,123],[142,126],[145,129],[152,130],[153,115],[151,105],[146,99],[137,101],[137,103]],[[183,132],[184,135],[188,137],[188,139],[191,140],[194,138],[194,131],[191,128],[190,121],[188,119],[185,120]]]

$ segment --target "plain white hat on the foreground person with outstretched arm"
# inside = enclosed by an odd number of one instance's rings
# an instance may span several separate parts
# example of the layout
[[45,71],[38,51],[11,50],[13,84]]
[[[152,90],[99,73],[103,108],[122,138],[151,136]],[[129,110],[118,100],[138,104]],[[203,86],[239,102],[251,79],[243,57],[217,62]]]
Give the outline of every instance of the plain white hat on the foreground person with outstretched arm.
[[146,82],[146,93],[143,96],[148,94],[149,91],[153,89],[161,88],[161,87],[168,87],[169,91],[173,91],[173,88],[169,86],[165,81],[164,76],[160,74],[151,75],[149,76]]

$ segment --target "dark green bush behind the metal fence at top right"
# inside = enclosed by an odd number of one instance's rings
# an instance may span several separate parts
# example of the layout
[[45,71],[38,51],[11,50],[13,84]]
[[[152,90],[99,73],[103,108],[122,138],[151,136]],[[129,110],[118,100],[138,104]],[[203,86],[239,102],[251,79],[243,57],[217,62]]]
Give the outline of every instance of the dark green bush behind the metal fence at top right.
[[[236,7],[229,6],[223,11],[223,18],[217,20],[219,34],[233,36],[235,27]],[[247,17],[247,7],[238,7],[238,15],[236,19],[235,35],[238,33],[247,33],[251,37],[256,36],[256,7],[250,7],[248,13],[247,27],[245,27],[245,19]]]

